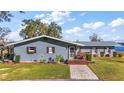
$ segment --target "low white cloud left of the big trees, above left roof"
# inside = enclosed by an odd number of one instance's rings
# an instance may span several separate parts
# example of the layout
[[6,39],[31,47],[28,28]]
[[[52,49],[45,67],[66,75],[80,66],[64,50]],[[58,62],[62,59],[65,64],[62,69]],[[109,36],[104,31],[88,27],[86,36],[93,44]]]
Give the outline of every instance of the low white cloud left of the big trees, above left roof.
[[19,35],[21,29],[18,29],[17,31],[13,31],[9,33],[6,38],[10,41],[19,41],[22,40],[23,38]]

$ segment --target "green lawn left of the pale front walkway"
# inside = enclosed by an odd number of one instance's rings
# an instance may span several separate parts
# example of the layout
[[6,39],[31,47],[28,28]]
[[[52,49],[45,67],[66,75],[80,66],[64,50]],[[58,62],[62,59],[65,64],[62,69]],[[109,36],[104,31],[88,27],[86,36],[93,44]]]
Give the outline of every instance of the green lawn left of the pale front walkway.
[[0,80],[70,79],[67,65],[0,64]]

